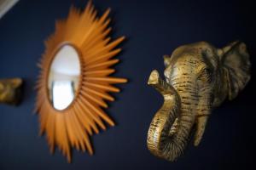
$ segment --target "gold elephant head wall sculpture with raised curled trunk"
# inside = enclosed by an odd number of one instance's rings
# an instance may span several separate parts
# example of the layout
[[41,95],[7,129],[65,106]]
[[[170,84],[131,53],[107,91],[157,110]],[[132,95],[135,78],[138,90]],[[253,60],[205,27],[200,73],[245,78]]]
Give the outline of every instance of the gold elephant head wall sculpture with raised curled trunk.
[[207,119],[224,99],[234,99],[250,79],[250,61],[243,42],[214,48],[195,42],[164,56],[166,81],[152,71],[148,85],[164,97],[164,104],[148,129],[148,150],[168,161],[183,154],[192,128],[194,145],[201,142]]

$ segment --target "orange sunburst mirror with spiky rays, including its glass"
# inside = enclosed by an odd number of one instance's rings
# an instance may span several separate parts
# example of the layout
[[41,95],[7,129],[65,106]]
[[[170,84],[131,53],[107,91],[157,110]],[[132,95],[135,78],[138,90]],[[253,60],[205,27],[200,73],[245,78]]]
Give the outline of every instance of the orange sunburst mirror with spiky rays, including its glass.
[[125,78],[109,77],[119,59],[116,48],[125,37],[108,37],[108,9],[100,18],[89,2],[83,12],[71,8],[67,20],[57,20],[55,32],[45,41],[45,51],[38,66],[37,103],[40,134],[46,134],[50,151],[57,146],[67,161],[72,148],[93,154],[90,136],[105,130],[113,120],[105,113],[109,92],[117,93],[113,83]]

